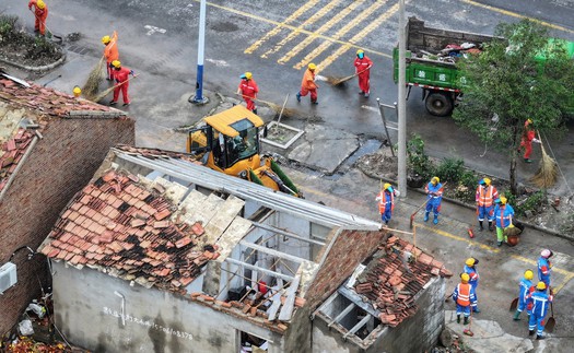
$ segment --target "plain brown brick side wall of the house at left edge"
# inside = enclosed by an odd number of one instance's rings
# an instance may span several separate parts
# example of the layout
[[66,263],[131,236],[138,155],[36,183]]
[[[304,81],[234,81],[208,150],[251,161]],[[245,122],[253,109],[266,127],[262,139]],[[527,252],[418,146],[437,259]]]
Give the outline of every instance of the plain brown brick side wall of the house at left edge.
[[[0,204],[0,263],[21,246],[36,250],[72,196],[87,184],[110,146],[133,144],[134,121],[120,119],[52,119]],[[49,285],[46,258],[27,260],[19,251],[17,284],[0,296],[0,333],[17,321],[40,295],[38,279]]]

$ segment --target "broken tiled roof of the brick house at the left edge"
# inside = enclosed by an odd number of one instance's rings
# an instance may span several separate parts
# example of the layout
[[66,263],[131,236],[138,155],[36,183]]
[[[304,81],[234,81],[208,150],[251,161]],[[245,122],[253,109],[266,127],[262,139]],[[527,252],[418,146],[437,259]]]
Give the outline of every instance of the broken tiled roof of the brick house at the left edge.
[[0,198],[54,118],[117,118],[125,113],[8,75],[0,69]]

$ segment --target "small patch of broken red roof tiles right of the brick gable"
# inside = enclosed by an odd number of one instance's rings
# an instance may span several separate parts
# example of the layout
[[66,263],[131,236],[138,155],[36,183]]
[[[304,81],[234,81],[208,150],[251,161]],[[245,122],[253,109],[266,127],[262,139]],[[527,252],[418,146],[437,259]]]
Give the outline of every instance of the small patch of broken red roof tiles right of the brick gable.
[[[417,256],[405,259],[405,251]],[[391,236],[373,256],[355,283],[355,292],[379,310],[383,325],[396,327],[417,313],[414,296],[435,275],[452,273],[412,244]]]

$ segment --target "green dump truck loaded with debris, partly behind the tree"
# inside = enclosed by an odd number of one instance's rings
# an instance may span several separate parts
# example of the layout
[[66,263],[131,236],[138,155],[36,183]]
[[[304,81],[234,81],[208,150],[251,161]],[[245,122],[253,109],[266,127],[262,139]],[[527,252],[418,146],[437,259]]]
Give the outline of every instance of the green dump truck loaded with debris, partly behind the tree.
[[[455,107],[457,97],[461,94],[460,72],[456,60],[464,55],[478,50],[482,43],[494,39],[493,36],[459,31],[446,31],[426,27],[424,21],[409,17],[406,28],[407,60],[407,98],[413,86],[423,90],[423,101],[426,110],[434,116],[448,116]],[[500,38],[503,39],[503,38]],[[569,55],[574,56],[574,43],[562,39],[549,39],[549,46],[565,46]],[[537,59],[544,61],[544,50]],[[399,50],[393,51],[394,80],[398,82]],[[573,99],[574,101],[574,99]],[[574,107],[574,102],[572,104]]]

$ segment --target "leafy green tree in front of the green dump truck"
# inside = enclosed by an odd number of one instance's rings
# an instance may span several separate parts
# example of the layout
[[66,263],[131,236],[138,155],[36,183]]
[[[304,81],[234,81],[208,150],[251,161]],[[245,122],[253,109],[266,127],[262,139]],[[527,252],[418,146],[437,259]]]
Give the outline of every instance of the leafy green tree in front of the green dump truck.
[[539,24],[523,20],[496,26],[483,51],[459,60],[465,96],[453,118],[480,140],[509,156],[511,192],[517,193],[516,158],[524,122],[546,136],[565,131],[572,114],[574,60],[565,42],[553,40]]

